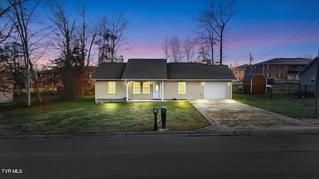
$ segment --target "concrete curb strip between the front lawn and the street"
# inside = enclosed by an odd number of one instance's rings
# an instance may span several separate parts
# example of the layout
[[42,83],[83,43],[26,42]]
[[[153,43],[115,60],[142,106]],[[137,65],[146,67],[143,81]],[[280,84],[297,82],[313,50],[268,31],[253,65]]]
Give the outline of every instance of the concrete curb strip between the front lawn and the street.
[[0,136],[0,140],[26,139],[79,139],[79,138],[111,138],[141,136],[235,136],[235,135],[280,135],[280,134],[319,134],[319,128],[301,129],[214,129],[196,131],[145,131],[145,132],[106,132],[81,134],[47,134],[47,135],[16,135]]

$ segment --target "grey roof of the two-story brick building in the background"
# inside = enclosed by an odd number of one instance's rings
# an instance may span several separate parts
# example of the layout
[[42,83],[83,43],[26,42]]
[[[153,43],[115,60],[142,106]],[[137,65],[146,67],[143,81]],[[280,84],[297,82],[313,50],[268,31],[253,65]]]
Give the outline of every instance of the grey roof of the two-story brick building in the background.
[[311,59],[305,58],[275,58],[256,65],[307,65]]

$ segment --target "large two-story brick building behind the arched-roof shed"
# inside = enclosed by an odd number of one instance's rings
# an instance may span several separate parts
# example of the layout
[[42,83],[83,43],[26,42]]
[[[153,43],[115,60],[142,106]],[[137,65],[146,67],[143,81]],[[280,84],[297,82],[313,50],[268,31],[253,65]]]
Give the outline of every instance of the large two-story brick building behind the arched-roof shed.
[[[278,80],[299,80],[297,74],[311,61],[305,58],[275,58],[251,66],[251,73],[260,73],[266,78]],[[250,67],[246,67],[250,74]]]

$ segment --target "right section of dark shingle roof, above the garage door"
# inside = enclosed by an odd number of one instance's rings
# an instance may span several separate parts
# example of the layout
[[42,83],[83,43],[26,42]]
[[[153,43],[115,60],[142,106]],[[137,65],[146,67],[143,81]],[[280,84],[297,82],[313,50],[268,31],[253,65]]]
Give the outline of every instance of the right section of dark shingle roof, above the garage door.
[[236,80],[227,65],[168,63],[168,80]]

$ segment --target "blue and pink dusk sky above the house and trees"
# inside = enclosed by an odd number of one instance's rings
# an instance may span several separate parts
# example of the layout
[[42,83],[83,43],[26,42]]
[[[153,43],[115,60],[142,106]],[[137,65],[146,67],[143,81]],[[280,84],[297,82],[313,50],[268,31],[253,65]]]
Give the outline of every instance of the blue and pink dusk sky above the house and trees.
[[[234,66],[236,60],[239,65],[247,64],[249,53],[253,64],[273,58],[318,56],[319,0],[238,0],[237,5],[240,11],[227,24],[225,65]],[[193,16],[205,6],[206,0],[89,0],[87,12],[94,17],[125,11],[130,21],[125,34],[132,48],[123,53],[127,61],[164,58],[161,44],[166,35],[195,38]]]

